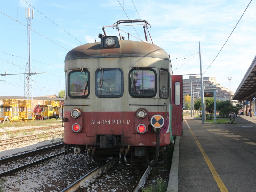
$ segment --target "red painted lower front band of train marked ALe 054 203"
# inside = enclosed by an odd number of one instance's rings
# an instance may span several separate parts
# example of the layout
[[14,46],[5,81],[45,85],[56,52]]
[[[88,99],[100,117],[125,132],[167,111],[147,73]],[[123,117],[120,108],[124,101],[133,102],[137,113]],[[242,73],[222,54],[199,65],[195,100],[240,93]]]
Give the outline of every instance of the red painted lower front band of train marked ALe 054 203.
[[[120,146],[141,146],[141,143],[145,146],[154,146],[156,145],[154,144],[156,134],[150,124],[150,119],[156,114],[165,116],[165,112],[150,112],[147,115],[148,118],[139,119],[134,112],[83,112],[79,118],[74,119],[70,116],[70,111],[65,111],[64,116],[68,120],[65,122],[64,136],[68,135],[68,137],[64,137],[64,142],[67,144],[97,145],[96,135],[114,134],[121,136],[122,143]],[[80,132],[72,130],[74,123],[81,125]],[[144,124],[147,127],[147,132],[138,134],[136,128],[139,124]],[[167,130],[168,124],[167,128],[162,128],[160,131],[161,139],[163,139],[161,146],[168,145],[170,142],[170,132]]]

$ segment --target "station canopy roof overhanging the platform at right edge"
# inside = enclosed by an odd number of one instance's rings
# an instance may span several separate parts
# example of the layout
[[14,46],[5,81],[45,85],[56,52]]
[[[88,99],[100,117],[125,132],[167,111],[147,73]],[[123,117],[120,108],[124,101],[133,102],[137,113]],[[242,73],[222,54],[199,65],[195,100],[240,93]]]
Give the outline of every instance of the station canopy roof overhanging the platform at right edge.
[[243,80],[238,86],[232,100],[248,100],[250,96],[256,95],[256,56],[254,57],[252,64],[244,75]]

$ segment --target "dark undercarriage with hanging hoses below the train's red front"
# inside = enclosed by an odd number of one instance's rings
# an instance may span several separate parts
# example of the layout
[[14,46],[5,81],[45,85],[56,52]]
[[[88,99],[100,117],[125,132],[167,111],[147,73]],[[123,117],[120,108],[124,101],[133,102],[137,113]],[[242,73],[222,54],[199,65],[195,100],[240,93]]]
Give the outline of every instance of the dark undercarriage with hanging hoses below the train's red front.
[[[86,153],[86,163],[89,166],[93,164],[97,166],[102,166],[107,160],[115,160],[119,162],[119,165],[126,164],[131,166],[135,162],[141,162],[141,164],[146,167],[147,165],[152,165],[156,163],[164,162],[164,152],[166,151],[166,146],[164,147],[140,147],[140,146],[115,146],[113,148],[100,148],[100,146],[92,145],[67,145],[65,144],[64,158],[69,160],[68,151],[73,148],[73,151],[77,154]],[[153,162],[151,161],[153,160]]]

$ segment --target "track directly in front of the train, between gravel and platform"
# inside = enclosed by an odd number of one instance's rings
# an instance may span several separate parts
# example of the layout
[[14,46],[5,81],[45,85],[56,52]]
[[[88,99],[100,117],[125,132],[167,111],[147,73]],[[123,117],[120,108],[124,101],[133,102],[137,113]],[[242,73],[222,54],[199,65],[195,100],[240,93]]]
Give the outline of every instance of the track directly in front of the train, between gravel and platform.
[[94,191],[138,192],[146,180],[151,167],[119,167],[117,162],[108,161],[104,166],[97,167],[61,192]]

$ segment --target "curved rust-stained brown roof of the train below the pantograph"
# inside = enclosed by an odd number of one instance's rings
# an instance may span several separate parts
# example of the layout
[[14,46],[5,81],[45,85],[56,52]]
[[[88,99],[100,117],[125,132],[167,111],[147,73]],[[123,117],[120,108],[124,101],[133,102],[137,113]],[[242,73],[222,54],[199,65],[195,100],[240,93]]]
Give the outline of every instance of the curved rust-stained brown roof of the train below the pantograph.
[[116,46],[107,47],[106,39],[109,36],[102,37],[100,42],[80,45],[71,51],[65,57],[65,61],[82,58],[106,58],[106,57],[153,57],[170,61],[169,55],[162,48],[155,44],[143,41],[119,40],[116,36]]

